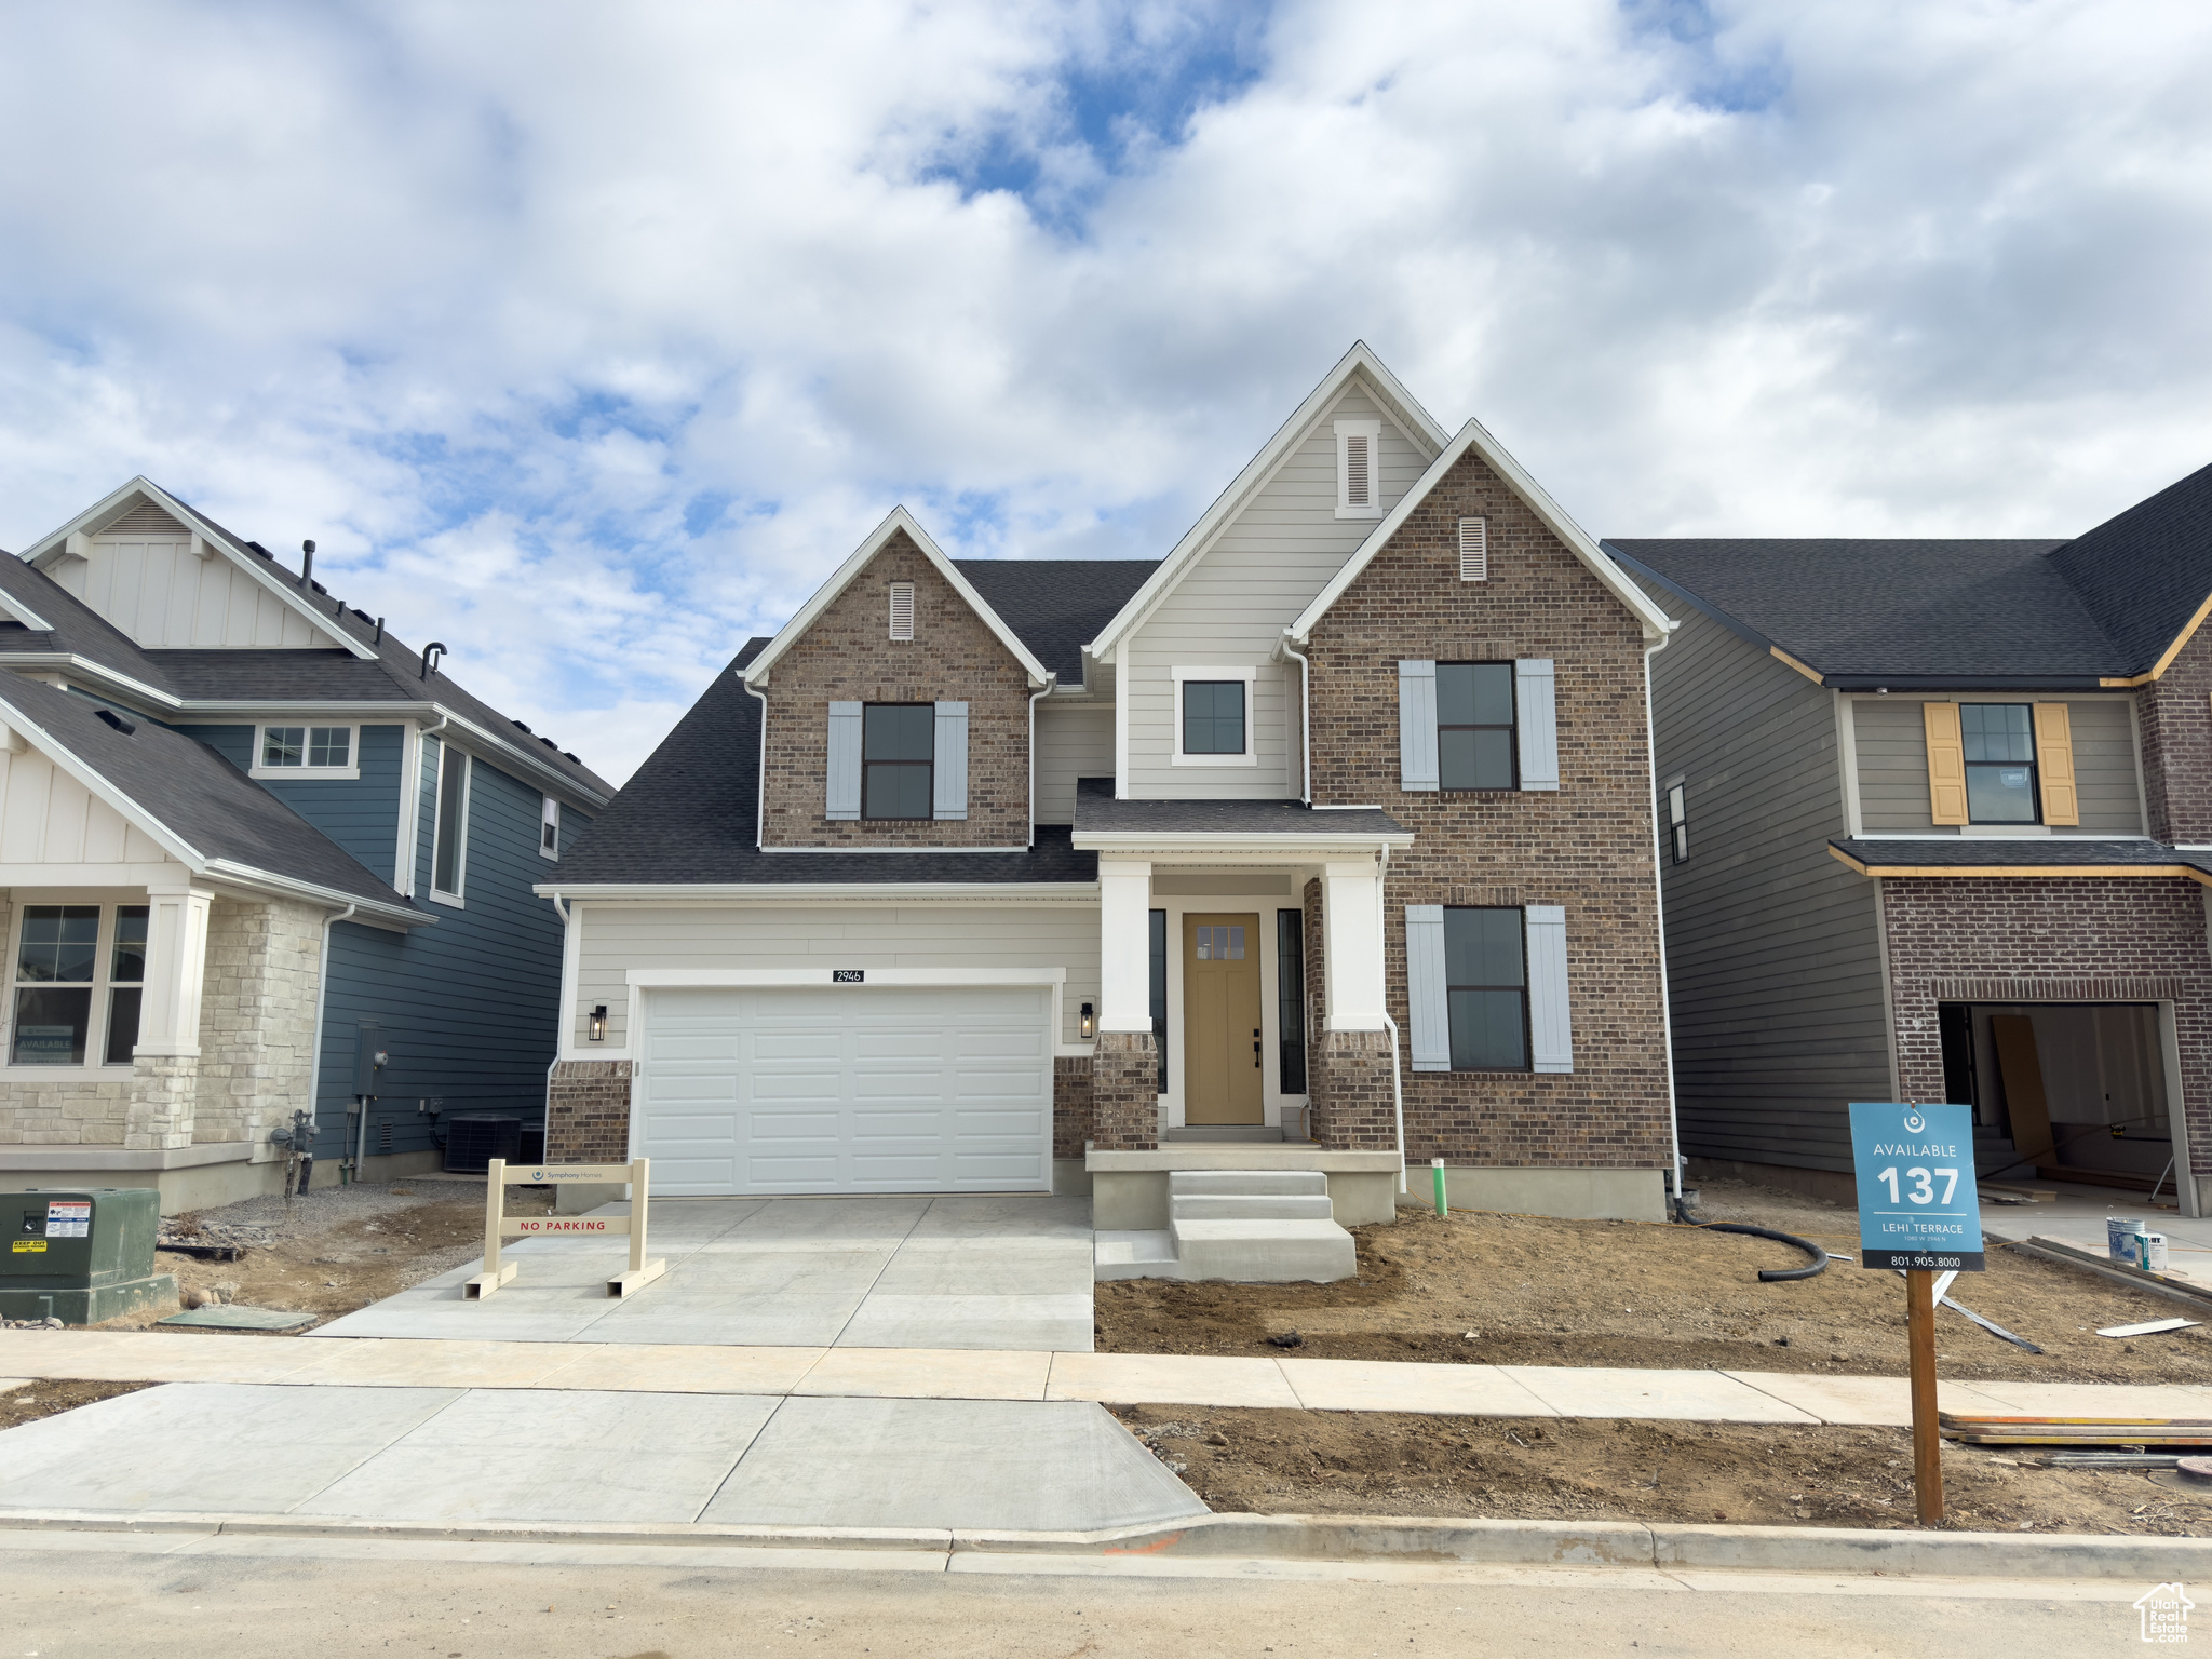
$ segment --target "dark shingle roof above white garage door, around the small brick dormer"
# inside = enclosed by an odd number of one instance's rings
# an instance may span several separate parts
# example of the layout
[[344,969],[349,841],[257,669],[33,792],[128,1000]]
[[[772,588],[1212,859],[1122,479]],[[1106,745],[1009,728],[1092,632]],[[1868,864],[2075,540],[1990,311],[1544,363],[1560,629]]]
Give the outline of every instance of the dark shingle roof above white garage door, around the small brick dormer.
[[759,852],[752,845],[761,765],[761,703],[737,670],[745,644],[690,712],[622,787],[615,803],[549,872],[562,887],[599,883],[1091,883],[1097,856],[1064,827],[1040,825],[1029,852]]

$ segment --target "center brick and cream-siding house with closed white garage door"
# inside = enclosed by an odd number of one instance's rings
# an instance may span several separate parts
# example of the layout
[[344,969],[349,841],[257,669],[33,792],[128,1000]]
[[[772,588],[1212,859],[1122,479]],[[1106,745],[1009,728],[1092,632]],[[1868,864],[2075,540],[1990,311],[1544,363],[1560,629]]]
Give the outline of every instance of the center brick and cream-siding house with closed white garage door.
[[[1668,617],[1354,347],[1164,557],[894,511],[540,891],[551,1157],[666,1192],[1093,1192],[1402,1161],[1663,1212]],[[1427,1172],[1422,1172],[1422,1186]]]

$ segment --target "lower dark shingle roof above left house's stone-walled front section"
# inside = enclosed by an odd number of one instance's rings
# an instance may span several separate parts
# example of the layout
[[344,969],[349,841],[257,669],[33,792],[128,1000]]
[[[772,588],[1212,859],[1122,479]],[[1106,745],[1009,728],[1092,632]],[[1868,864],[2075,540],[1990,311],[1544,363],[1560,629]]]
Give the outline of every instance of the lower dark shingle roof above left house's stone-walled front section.
[[100,719],[100,703],[22,675],[0,675],[0,703],[15,708],[27,723],[44,730],[208,858],[228,858],[394,909],[416,909],[206,743],[148,719],[135,719],[137,730],[126,737]]

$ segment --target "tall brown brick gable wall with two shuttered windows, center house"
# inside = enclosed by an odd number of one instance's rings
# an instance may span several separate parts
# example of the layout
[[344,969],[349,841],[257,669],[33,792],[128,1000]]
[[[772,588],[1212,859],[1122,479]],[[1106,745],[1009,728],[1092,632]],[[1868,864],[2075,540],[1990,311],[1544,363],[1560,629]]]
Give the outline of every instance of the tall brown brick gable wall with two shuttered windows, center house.
[[[1489,522],[1486,582],[1460,582],[1458,520],[1473,515]],[[1469,453],[1314,626],[1310,655],[1314,801],[1380,803],[1416,834],[1391,858],[1385,885],[1385,971],[1400,1033],[1409,1026],[1405,905],[1566,907],[1573,1075],[1416,1073],[1407,1057],[1407,1157],[1668,1168],[1639,619]],[[1402,792],[1398,661],[1407,657],[1551,657],[1559,790]],[[1321,940],[1307,931],[1307,973],[1318,987]],[[1363,1046],[1332,1048],[1323,1037],[1316,1048],[1316,1135],[1376,1144]],[[1325,1106],[1332,1091],[1340,1104]],[[1389,1144],[1387,1095],[1383,1108]]]

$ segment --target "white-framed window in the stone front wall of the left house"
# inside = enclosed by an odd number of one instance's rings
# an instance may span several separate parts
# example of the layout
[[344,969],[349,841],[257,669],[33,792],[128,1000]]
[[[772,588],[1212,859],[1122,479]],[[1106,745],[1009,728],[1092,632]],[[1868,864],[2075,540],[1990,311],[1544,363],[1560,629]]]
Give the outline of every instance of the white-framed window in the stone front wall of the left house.
[[24,905],[15,936],[11,1066],[128,1066],[146,987],[146,905]]

